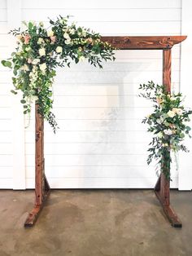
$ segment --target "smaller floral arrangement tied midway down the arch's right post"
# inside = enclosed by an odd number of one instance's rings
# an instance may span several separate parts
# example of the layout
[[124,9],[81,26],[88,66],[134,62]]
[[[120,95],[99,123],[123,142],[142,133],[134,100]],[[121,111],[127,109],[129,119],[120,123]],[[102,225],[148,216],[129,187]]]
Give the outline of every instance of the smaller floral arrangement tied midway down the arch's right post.
[[184,108],[181,93],[170,94],[165,86],[148,82],[140,85],[139,89],[144,91],[139,96],[150,99],[154,104],[154,112],[142,120],[142,123],[149,126],[148,131],[153,134],[147,164],[154,158],[159,167],[157,171],[160,170],[170,179],[170,152],[188,152],[183,140],[185,135],[190,136],[191,129],[187,122],[190,121],[192,111]]

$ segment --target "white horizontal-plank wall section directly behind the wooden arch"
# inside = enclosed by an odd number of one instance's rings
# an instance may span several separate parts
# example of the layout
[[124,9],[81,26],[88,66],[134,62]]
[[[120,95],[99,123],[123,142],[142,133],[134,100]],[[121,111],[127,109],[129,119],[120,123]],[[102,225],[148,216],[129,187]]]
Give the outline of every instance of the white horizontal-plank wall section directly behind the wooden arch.
[[[47,16],[73,15],[72,20],[103,36],[181,34],[181,0],[121,0],[110,2],[110,7],[107,1],[20,0],[20,7],[21,20],[46,22]],[[16,13],[13,18],[18,19]],[[180,47],[172,50],[176,88],[180,82]],[[51,188],[154,187],[155,167],[146,166],[150,135],[141,124],[150,108],[136,95],[139,83],[160,83],[161,77],[161,51],[117,51],[116,62],[104,64],[103,70],[88,64],[58,69],[54,90],[60,129],[54,135],[46,126],[45,138],[46,175]],[[26,188],[34,186],[33,127],[32,116],[31,126],[25,130]],[[20,175],[24,177],[24,172]],[[172,188],[177,188],[174,166],[172,180]]]

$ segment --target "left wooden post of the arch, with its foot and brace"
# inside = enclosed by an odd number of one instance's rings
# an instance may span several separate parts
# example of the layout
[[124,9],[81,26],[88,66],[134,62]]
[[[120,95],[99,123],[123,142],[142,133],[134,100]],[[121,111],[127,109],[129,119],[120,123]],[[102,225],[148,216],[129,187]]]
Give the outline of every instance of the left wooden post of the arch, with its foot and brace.
[[35,106],[35,206],[24,223],[24,227],[32,227],[36,223],[43,203],[50,192],[49,183],[45,175],[44,160],[44,119],[38,113],[38,105]]

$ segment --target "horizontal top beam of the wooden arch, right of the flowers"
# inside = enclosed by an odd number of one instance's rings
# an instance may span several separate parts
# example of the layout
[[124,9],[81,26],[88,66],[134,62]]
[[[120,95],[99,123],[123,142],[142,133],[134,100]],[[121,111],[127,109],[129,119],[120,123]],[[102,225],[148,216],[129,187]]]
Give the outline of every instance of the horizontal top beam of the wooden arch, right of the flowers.
[[184,41],[186,36],[102,37],[103,42],[121,50],[164,50]]

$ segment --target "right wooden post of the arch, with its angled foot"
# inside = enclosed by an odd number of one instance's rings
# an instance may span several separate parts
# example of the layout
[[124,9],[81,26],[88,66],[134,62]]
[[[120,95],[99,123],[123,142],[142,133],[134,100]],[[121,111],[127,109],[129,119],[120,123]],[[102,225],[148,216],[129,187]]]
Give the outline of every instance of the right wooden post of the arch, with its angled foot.
[[[163,50],[163,84],[166,90],[171,93],[171,49]],[[169,168],[170,172],[170,168]],[[155,185],[155,194],[159,198],[163,206],[164,213],[173,227],[182,227],[181,221],[170,207],[170,181],[166,179],[163,173],[160,174],[159,179]]]

